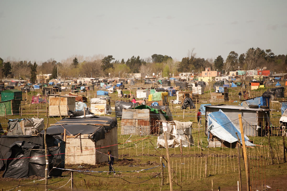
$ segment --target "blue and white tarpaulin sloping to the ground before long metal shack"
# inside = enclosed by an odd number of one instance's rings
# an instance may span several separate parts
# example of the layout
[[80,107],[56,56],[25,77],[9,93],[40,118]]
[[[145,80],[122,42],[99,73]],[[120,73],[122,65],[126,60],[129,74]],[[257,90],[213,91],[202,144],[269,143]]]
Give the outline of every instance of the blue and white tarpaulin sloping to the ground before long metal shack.
[[[230,119],[223,113],[220,109],[219,111],[212,112],[208,114],[207,127],[212,135],[218,137],[218,139],[226,141],[228,143],[237,142],[237,135],[241,137],[240,130],[230,121]],[[237,135],[236,135],[237,133]],[[209,133],[208,133],[209,139]],[[249,138],[244,135],[245,144],[247,146],[254,146],[249,142]],[[242,144],[242,140],[240,140]]]

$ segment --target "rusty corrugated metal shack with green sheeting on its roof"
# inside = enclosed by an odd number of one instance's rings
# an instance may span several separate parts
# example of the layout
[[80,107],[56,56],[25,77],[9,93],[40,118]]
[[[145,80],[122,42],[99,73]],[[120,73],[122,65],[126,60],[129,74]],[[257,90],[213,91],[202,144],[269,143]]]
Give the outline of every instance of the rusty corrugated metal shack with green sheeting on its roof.
[[162,121],[170,118],[160,109],[140,105],[122,111],[122,135],[154,135],[162,133]]

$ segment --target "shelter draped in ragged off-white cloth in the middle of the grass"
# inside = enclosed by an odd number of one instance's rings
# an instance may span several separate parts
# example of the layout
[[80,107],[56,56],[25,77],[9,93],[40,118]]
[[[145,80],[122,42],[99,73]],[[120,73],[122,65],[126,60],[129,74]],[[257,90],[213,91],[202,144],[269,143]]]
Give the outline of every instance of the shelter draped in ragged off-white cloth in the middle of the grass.
[[156,145],[160,148],[179,147],[182,142],[183,147],[193,144],[192,122],[170,121],[162,122],[162,128],[166,133],[167,144],[165,144],[163,134],[158,137]]

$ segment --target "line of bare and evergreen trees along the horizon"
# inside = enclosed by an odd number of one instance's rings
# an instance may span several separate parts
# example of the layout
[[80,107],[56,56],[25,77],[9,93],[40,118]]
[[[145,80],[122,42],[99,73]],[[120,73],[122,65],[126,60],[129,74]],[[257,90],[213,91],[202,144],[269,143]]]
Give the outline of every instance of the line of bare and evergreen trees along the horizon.
[[32,83],[36,82],[37,74],[52,74],[50,79],[57,78],[79,78],[79,77],[128,77],[128,73],[144,73],[152,76],[152,73],[162,77],[178,76],[180,72],[201,72],[205,67],[212,70],[229,71],[252,70],[257,67],[266,67],[280,73],[286,72],[287,55],[275,55],[270,49],[249,48],[245,53],[231,51],[224,60],[221,55],[217,58],[199,58],[194,49],[188,51],[187,56],[181,61],[174,60],[171,56],[153,54],[148,58],[131,56],[126,61],[116,60],[112,55],[95,55],[92,57],[71,56],[61,62],[51,58],[41,64],[31,61],[7,60],[0,58],[0,78],[13,78],[21,76],[21,79],[30,78]]

